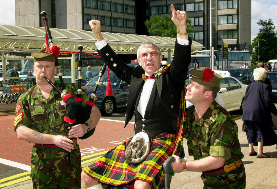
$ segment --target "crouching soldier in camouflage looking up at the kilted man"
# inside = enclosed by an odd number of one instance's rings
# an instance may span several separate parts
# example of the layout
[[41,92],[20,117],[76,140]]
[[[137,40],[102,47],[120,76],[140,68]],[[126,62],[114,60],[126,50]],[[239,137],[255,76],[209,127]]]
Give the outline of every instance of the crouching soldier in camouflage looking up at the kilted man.
[[185,98],[194,105],[187,110],[183,135],[194,161],[183,162],[174,155],[176,161],[171,167],[175,172],[202,171],[205,189],[244,189],[246,175],[238,127],[214,100],[222,77],[203,68],[192,69],[190,74]]

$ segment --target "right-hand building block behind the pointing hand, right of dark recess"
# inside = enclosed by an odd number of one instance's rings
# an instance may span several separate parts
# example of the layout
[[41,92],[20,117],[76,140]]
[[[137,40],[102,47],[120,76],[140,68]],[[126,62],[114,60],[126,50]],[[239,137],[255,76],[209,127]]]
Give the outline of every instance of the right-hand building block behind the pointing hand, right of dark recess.
[[[221,50],[252,51],[251,0],[212,0],[212,46]],[[194,41],[210,49],[210,0],[150,0],[149,15],[171,14],[170,5],[185,10],[194,29]],[[150,16],[151,17],[151,16]]]

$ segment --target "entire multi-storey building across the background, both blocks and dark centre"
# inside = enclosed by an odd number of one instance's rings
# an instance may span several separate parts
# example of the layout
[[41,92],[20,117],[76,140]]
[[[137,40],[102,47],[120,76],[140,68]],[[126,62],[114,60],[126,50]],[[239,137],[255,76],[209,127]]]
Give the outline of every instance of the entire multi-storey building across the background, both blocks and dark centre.
[[[171,15],[170,5],[185,10],[191,19],[193,40],[210,49],[210,0],[15,0],[16,25],[43,26],[46,11],[52,28],[91,30],[89,20],[113,33],[148,35],[144,25],[151,14]],[[212,46],[252,51],[251,0],[211,0]]]

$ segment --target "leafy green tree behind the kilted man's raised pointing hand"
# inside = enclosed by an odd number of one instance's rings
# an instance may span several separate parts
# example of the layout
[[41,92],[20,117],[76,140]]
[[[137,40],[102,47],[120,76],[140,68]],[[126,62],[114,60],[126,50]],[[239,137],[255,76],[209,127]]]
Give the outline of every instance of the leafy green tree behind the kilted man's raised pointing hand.
[[[152,14],[150,20],[146,20],[144,25],[147,27],[148,33],[151,36],[160,37],[176,37],[176,26],[172,22],[171,17],[167,14],[154,15]],[[187,18],[188,35],[192,37],[194,31],[191,25],[191,20]]]

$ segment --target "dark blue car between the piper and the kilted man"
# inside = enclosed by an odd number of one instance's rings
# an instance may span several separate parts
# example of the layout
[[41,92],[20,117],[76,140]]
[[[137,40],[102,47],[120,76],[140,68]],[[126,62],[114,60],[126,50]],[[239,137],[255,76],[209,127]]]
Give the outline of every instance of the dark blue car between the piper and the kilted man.
[[[132,67],[136,67],[139,63],[128,64]],[[107,71],[107,69],[106,69]],[[98,81],[99,76],[93,77],[85,86],[85,89],[90,96],[93,93],[96,86],[95,82]],[[126,109],[127,107],[127,97],[130,85],[127,84],[122,79],[119,79],[115,73],[110,71],[111,86],[113,89],[113,96],[106,96],[106,87],[108,81],[107,72],[104,73],[101,79],[101,85],[98,86],[96,91],[96,97],[98,100],[94,104],[99,108],[105,116],[110,116],[115,110]]]

